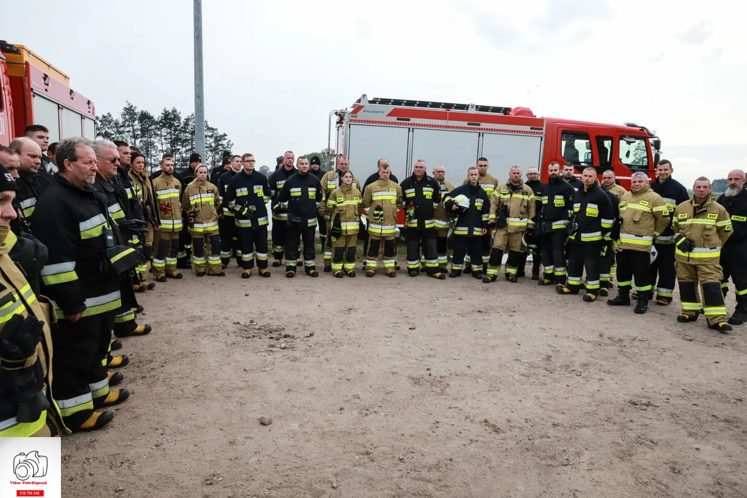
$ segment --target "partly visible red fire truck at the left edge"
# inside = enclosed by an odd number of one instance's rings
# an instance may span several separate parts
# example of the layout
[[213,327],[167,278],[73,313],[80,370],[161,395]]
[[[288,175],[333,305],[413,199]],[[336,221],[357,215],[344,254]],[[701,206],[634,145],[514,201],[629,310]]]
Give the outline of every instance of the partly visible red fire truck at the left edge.
[[69,87],[69,78],[22,45],[0,40],[0,144],[28,125],[49,128],[49,142],[96,138],[96,109]]

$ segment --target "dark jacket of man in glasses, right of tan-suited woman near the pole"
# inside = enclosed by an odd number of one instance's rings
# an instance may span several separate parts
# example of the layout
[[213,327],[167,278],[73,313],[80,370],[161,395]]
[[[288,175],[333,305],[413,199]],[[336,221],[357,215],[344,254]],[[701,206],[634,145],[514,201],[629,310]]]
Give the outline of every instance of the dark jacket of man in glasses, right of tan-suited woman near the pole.
[[[232,177],[226,176],[233,174]],[[259,228],[269,223],[267,220],[267,201],[270,200],[270,187],[267,178],[256,169],[247,175],[242,169],[238,173],[223,173],[221,179],[231,178],[223,202],[225,208],[235,215],[236,226],[242,228]],[[254,211],[250,208],[254,207]],[[238,211],[238,212],[237,212]]]

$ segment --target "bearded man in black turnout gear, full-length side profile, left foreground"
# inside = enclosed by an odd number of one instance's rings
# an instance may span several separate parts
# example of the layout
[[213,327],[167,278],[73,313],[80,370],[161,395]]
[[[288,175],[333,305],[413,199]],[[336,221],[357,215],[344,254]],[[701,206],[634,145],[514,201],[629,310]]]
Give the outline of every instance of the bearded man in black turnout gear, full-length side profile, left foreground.
[[98,169],[90,140],[63,140],[57,159],[60,172],[37,204],[34,232],[49,248],[43,291],[58,319],[52,331],[53,395],[69,429],[98,429],[114,413],[94,408],[128,397],[125,389],[109,389],[102,364],[122,305],[114,258],[107,256],[117,241],[116,227],[110,225],[104,200],[90,188]]

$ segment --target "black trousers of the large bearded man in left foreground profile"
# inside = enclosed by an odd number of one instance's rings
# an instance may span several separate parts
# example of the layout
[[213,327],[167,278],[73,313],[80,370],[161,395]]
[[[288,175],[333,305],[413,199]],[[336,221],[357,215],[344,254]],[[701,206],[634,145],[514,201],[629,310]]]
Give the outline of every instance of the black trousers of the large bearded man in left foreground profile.
[[114,314],[95,315],[75,323],[58,320],[52,329],[52,370],[55,373],[55,402],[63,421],[70,429],[77,429],[93,413],[93,395],[106,396],[106,367],[102,365],[111,343]]

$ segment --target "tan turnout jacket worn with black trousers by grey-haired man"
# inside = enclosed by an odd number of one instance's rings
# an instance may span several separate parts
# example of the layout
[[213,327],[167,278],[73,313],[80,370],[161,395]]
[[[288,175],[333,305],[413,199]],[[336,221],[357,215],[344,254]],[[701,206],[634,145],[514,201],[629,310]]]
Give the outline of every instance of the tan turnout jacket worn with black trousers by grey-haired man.
[[617,250],[651,252],[654,237],[669,226],[664,199],[644,185],[638,192],[625,192],[620,199],[620,246]]

